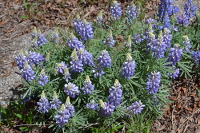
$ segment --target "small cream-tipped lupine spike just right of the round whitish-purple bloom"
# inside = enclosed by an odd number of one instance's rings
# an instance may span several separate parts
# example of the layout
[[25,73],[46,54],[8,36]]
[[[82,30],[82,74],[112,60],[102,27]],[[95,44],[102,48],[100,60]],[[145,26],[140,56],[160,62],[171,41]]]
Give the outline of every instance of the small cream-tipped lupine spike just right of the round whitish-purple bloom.
[[88,75],[86,75],[86,80],[84,81],[84,86],[81,88],[81,90],[84,92],[84,94],[92,94],[92,91],[94,90],[94,85],[92,85]]

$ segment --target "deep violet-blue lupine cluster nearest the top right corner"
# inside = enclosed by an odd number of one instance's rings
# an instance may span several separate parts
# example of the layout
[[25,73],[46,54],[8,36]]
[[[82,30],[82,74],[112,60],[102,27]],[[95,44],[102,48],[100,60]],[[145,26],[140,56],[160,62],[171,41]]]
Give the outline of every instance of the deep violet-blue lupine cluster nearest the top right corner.
[[188,0],[185,3],[183,14],[177,16],[177,23],[182,24],[184,27],[187,27],[190,23],[190,19],[193,18],[195,15],[196,9],[196,5],[192,6],[192,0]]

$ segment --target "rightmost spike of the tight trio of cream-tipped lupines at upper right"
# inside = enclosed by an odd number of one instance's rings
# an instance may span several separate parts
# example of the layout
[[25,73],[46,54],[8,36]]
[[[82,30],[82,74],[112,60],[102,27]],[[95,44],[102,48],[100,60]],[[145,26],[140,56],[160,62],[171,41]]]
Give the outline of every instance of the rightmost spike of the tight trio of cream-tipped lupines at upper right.
[[172,35],[170,34],[170,30],[167,28],[164,28],[163,32],[163,42],[165,43],[166,50],[170,48],[172,41]]

